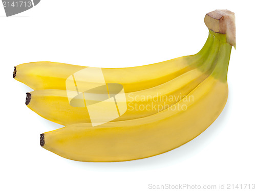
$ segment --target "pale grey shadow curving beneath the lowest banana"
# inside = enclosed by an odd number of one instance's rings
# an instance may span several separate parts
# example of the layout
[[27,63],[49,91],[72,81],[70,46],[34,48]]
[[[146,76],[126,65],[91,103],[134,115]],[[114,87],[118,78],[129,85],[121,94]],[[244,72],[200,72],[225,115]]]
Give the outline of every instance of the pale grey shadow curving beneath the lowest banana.
[[[231,92],[230,87],[229,92]],[[230,94],[222,113],[209,128],[207,128],[202,134],[193,140],[172,151],[168,151],[153,157],[124,162],[79,162],[61,157],[60,159],[65,160],[67,163],[73,165],[76,168],[94,172],[148,171],[153,169],[166,168],[166,166],[181,163],[204,150],[225,128],[231,113],[230,103],[232,103],[232,98]]]

